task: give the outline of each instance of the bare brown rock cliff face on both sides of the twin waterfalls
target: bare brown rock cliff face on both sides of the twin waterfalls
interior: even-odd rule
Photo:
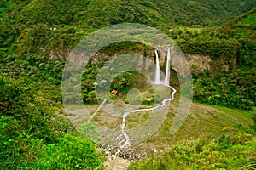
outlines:
[[[143,56],[143,53],[140,51],[135,52],[135,54],[138,54],[140,56]],[[93,61],[97,65],[103,65],[103,60],[111,60],[115,57],[118,57],[119,52],[113,55],[109,54],[101,54],[98,53],[93,57]],[[155,62],[155,54],[154,49],[148,50],[147,56],[149,60]],[[212,59],[208,55],[201,55],[201,54],[184,54],[184,57],[187,59],[187,62],[190,67],[190,71],[193,75],[197,76],[203,71],[209,71],[211,76],[214,77],[214,75],[224,72],[224,71],[230,71],[235,70],[237,68],[237,59],[234,57],[233,59]],[[159,59],[160,59],[160,68],[162,71],[166,71],[166,54],[159,53]],[[172,65],[174,64],[174,61],[172,60]],[[141,68],[138,69],[144,69],[145,71],[149,71],[150,69],[150,62],[145,62],[143,59],[138,60],[138,66]],[[172,71],[177,71],[177,68],[175,66],[172,66]]]

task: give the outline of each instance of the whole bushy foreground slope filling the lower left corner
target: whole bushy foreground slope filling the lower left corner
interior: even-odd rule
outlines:
[[[1,168],[102,169],[95,144],[71,135],[67,118],[32,95],[31,84],[0,74],[0,88]]]

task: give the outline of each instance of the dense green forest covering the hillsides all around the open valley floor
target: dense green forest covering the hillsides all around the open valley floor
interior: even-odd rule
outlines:
[[[248,122],[230,135],[182,141],[129,169],[255,169],[255,6],[253,0],[1,1],[0,169],[105,168],[99,145],[62,113],[62,71],[84,37],[127,22],[160,29],[184,54],[208,56],[210,69],[191,66],[193,102],[241,111]],[[100,63],[90,63],[82,77],[84,104],[97,105],[94,82],[104,62],[128,51],[147,56],[154,49],[135,42],[102,48]],[[127,94],[137,77],[120,75],[109,90]],[[142,104],[152,105],[145,99]],[[83,130],[88,128],[93,126]]]

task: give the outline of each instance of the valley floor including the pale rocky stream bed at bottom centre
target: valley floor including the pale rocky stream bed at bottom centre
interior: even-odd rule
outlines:
[[[247,128],[252,123],[248,122],[250,119],[247,117],[246,112],[193,103],[186,122],[184,122],[183,126],[175,135],[172,135],[168,133],[168,130],[172,124],[172,117],[176,111],[177,105],[178,101],[172,103],[165,122],[156,133],[152,136],[148,136],[148,139],[124,149],[102,146],[100,150],[105,152],[107,156],[107,161],[104,164],[105,167],[111,170],[126,169],[132,161],[140,161],[147,157],[163,155],[173,144],[189,142],[201,137],[218,138],[222,134],[230,134],[241,130],[241,128]],[[86,105],[86,109],[90,115],[92,115],[98,107],[99,105]],[[109,115],[106,116],[101,114],[101,112],[102,111],[99,111],[99,115],[97,116],[103,117],[96,116],[96,120],[109,122],[106,126],[119,126],[119,118]],[[71,116],[71,120],[74,122],[84,120],[82,109],[66,111],[64,115],[67,117]]]

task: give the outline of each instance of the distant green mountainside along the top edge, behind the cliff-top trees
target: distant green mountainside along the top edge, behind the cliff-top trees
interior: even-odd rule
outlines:
[[[14,5],[16,4],[16,5]],[[121,22],[139,22],[161,26],[216,25],[253,8],[253,0],[241,1],[38,1],[22,3],[5,1],[4,8],[14,8],[15,19],[21,23],[48,23],[49,26],[71,25],[106,26]],[[166,23],[163,23],[166,22]]]

